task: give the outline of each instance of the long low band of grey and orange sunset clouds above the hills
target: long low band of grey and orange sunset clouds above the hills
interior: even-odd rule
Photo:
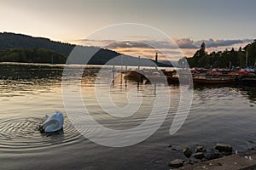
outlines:
[[[225,48],[244,47],[247,43],[253,42],[253,39],[206,39],[194,41],[190,37],[177,38],[172,40],[147,39],[146,37],[136,37],[136,41],[121,41],[116,40],[78,40],[80,45],[96,46],[101,48],[109,48],[122,54],[142,55],[148,58],[154,55],[155,51],[170,56],[185,55],[192,56],[198,50],[202,42],[206,43],[208,52],[222,51]],[[183,54],[181,54],[181,52]]]

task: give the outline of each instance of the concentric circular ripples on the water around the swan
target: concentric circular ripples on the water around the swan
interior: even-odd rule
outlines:
[[[81,140],[80,134],[66,118],[63,131],[58,133],[40,133],[39,125],[43,118],[27,117],[0,120],[0,146],[6,151],[35,150],[45,147],[59,147]]]

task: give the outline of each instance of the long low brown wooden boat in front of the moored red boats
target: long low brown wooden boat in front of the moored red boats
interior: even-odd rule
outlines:
[[[216,76],[209,74],[196,74],[193,76],[193,82],[195,85],[201,84],[212,84],[212,85],[222,85],[222,84],[232,84],[235,82],[235,77],[233,76]]]

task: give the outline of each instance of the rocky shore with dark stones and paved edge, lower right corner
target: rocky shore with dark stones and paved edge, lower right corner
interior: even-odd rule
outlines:
[[[172,150],[177,147],[170,144]],[[212,169],[212,170],[235,170],[256,169],[256,150],[254,147],[245,151],[235,150],[231,144],[217,143],[214,148],[207,149],[201,144],[179,148],[183,157],[168,162],[171,169]]]

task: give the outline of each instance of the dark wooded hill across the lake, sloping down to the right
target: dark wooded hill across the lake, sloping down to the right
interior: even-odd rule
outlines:
[[[31,37],[23,34],[0,32],[0,62],[34,62],[34,63],[65,63],[67,56],[76,45],[67,42],[55,42],[44,37]],[[90,59],[90,65],[105,65],[110,59],[121,54],[103,48],[82,47],[86,50],[97,51]],[[126,55],[125,55],[126,56]],[[127,65],[137,65],[138,59],[126,56]],[[120,64],[120,63],[119,63]],[[152,65],[152,60],[141,59],[141,64]],[[118,65],[118,63],[116,64]],[[158,63],[159,66],[170,66]]]

